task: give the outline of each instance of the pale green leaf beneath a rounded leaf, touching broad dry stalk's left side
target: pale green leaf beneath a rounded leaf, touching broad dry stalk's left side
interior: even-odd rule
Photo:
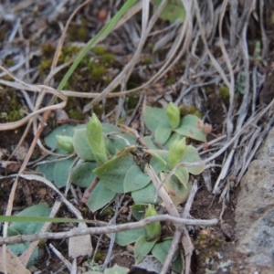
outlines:
[[[153,204],[159,203],[156,188],[150,183],[140,190],[132,191],[132,199],[135,204]]]

